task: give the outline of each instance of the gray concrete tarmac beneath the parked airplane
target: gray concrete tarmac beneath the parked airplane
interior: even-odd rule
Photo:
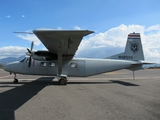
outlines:
[[[69,77],[13,75],[0,69],[0,120],[160,120],[160,69]],[[53,80],[53,81],[52,81]]]

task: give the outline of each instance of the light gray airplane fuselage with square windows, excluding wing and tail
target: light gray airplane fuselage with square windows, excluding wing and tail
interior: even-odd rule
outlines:
[[[57,76],[58,64],[55,61],[37,61],[32,60],[31,67],[28,67],[28,57],[22,61],[16,61],[4,67],[6,71],[25,75],[47,75]],[[134,70],[134,64],[140,61],[114,60],[114,59],[91,59],[74,58],[63,62],[62,74],[75,77],[87,77],[91,75],[111,72],[120,69]],[[140,66],[136,66],[141,67]]]

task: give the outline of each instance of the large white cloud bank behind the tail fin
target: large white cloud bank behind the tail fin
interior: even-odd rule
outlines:
[[[141,34],[146,60],[160,62],[159,28],[160,25],[145,28],[141,25],[127,26],[122,24],[106,32],[95,33],[91,37],[82,40],[75,57],[104,58],[121,53],[125,49],[127,35],[136,32]]]

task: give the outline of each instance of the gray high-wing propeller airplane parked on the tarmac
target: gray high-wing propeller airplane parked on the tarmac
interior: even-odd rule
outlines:
[[[74,58],[84,36],[94,33],[90,30],[33,30],[48,51],[33,51],[34,43],[21,61],[8,63],[4,70],[14,74],[46,75],[58,78],[60,85],[67,85],[67,77],[88,77],[121,69],[133,72],[143,69],[143,48],[140,33],[128,34],[125,51],[103,59]]]

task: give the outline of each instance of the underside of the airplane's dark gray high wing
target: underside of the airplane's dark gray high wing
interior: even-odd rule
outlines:
[[[89,30],[34,30],[49,52],[63,56],[74,56],[82,38],[93,33]]]

